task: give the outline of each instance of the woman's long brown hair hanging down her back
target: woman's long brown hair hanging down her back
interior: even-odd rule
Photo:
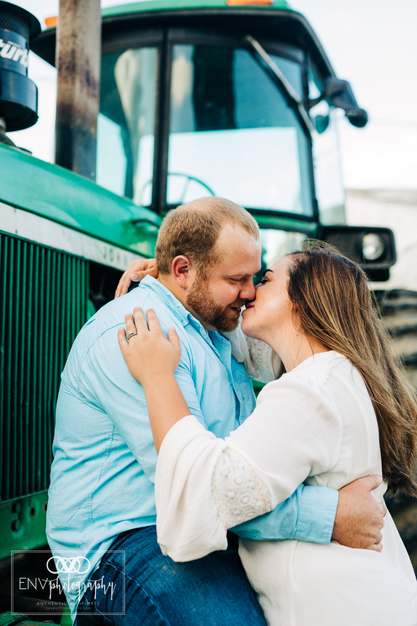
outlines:
[[[378,421],[383,478],[417,495],[417,396],[379,317],[363,269],[322,242],[288,255],[288,294],[300,330],[346,356],[361,373]]]

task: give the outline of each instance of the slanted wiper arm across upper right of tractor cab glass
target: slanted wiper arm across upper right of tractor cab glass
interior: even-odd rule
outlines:
[[[281,72],[281,69],[279,69],[278,65],[274,63],[273,59],[271,59],[271,57],[261,46],[259,41],[256,41],[256,39],[254,39],[251,35],[246,35],[244,39],[246,43],[248,43],[251,47],[255,59],[263,66],[264,69],[266,69],[269,76],[271,76],[271,79],[278,87],[279,91],[283,93],[289,106],[294,109],[296,115],[299,118],[299,121],[301,121],[301,124],[304,127],[304,130],[307,132],[308,136],[311,137],[313,125],[306,109],[304,108],[302,98],[299,97],[296,90],[294,90],[291,83],[289,83],[289,81],[285,78],[284,74]]]

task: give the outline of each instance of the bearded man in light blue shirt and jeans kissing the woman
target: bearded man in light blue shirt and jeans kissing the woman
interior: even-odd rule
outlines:
[[[174,563],[159,550],[157,454],[143,389],[130,376],[117,338],[124,314],[134,306],[156,310],[163,331],[174,326],[178,332],[182,355],[176,378],[189,408],[216,436],[229,434],[253,411],[255,400],[243,365],[218,331],[236,327],[240,307],[255,296],[258,226],[228,200],[201,198],[165,218],[156,262],[158,280],[148,276],[100,309],[69,354],[56,414],[49,545],[58,557],[72,550],[88,563],[68,578],[73,615],[88,579],[101,582],[97,593],[93,585],[86,591],[83,600],[96,599],[95,611],[80,610],[78,626],[264,626],[235,535],[230,534],[228,550],[190,563]],[[274,511],[235,530],[253,538],[319,543],[333,536],[344,545],[379,550],[374,544],[385,511],[370,494],[377,484],[377,478],[361,479],[339,496],[301,485]]]

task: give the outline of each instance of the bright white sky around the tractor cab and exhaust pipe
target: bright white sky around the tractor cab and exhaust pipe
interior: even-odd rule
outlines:
[[[44,19],[58,0],[14,0]],[[101,6],[126,4],[102,0]],[[417,189],[416,0],[290,0],[308,19],[338,78],[351,83],[369,122],[340,125],[344,183],[348,188]],[[29,76],[39,89],[39,120],[11,138],[52,161],[56,71],[31,54]]]

